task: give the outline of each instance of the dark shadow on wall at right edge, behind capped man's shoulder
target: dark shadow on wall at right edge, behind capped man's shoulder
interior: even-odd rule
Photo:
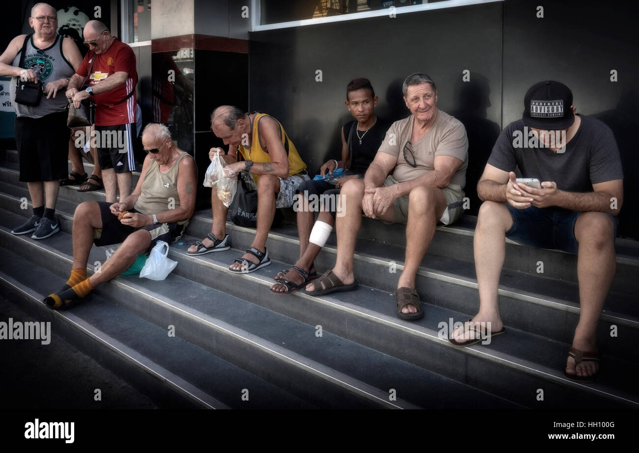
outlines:
[[[589,115],[597,118],[612,130],[619,146],[621,165],[624,168],[624,204],[619,212],[619,237],[629,237],[639,240],[639,232],[636,225],[639,222],[639,172],[636,168],[636,131],[639,128],[637,121],[637,103],[639,94],[634,89],[622,93],[617,102],[617,107],[598,114]],[[633,228],[634,227],[634,228]]]

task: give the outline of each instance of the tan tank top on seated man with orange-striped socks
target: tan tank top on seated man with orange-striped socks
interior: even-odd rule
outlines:
[[[180,206],[178,169],[180,161],[187,156],[192,159],[188,152],[182,152],[166,173],[160,172],[160,166],[156,161],[151,161],[151,165],[146,169],[144,182],[142,182],[142,193],[134,206],[135,211],[148,216]],[[178,221],[178,225],[188,223],[189,219]]]

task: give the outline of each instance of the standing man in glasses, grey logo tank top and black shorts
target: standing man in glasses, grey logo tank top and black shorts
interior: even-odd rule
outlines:
[[[19,152],[20,181],[26,182],[33,215],[13,229],[13,234],[33,233],[45,239],[59,231],[54,216],[60,179],[67,174],[69,130],[66,127],[65,88],[82,63],[77,46],[56,33],[56,10],[46,3],[31,8],[29,25],[34,33],[13,38],[0,56],[0,75],[13,77],[11,93],[16,112],[15,142]],[[24,48],[24,56],[22,55]],[[22,67],[20,63],[22,62]],[[18,79],[43,84],[36,106],[15,102]]]

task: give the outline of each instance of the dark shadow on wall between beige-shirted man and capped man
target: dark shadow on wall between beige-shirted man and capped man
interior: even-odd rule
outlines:
[[[470,209],[466,214],[476,216],[481,205],[481,200],[477,197],[477,182],[484,172],[493,145],[497,142],[500,128],[499,124],[486,118],[488,107],[491,106],[488,78],[473,73],[469,82],[459,80],[456,83],[454,93],[456,107],[454,111],[447,113],[456,117],[466,128],[468,169],[464,192],[470,198]]]

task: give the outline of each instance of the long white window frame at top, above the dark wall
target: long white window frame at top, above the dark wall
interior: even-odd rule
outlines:
[[[447,0],[436,3],[412,4],[408,6],[397,6],[395,14],[413,13],[415,11],[440,10],[442,8],[454,8],[455,6],[467,6],[471,4],[493,3],[504,0]],[[265,31],[279,28],[303,27],[307,25],[328,24],[330,22],[341,22],[343,20],[367,19],[369,17],[388,16],[390,8],[373,11],[360,11],[358,13],[347,13],[330,17],[316,17],[314,19],[291,20],[290,22],[279,22],[277,24],[261,25],[259,5],[260,0],[251,0],[251,21],[250,31]]]

